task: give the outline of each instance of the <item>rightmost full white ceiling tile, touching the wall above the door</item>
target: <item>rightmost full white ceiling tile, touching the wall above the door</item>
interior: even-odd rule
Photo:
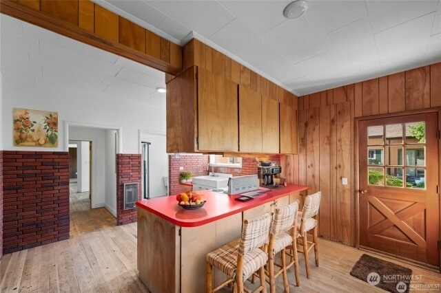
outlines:
[[[375,34],[380,63],[385,72],[414,65],[425,57],[434,15],[435,12],[432,12]]]

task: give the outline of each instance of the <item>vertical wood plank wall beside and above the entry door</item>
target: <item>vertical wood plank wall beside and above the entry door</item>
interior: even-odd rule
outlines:
[[[356,241],[354,119],[440,106],[441,63],[298,98],[298,155],[280,162],[288,182],[309,185],[309,194],[322,191],[320,236]]]

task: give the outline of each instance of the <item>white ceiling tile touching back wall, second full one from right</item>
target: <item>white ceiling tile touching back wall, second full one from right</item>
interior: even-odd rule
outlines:
[[[367,17],[322,36],[322,41],[338,66],[349,71],[349,74],[360,72],[360,68],[369,72],[380,70],[377,48]]]

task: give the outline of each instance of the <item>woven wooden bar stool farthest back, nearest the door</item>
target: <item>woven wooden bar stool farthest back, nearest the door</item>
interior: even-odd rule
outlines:
[[[305,204],[300,219],[297,220],[298,237],[302,239],[302,250],[298,250],[305,255],[306,276],[309,279],[311,276],[311,268],[309,268],[309,250],[314,248],[314,256],[316,257],[316,266],[318,267],[318,243],[317,243],[317,229],[318,208],[320,208],[320,197],[322,193],[318,191],[312,195],[305,197]],[[312,230],[312,242],[307,240],[307,232]]]

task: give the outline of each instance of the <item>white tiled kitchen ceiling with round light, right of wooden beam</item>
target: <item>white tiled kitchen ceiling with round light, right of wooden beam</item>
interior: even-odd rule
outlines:
[[[441,0],[92,0],[183,45],[212,45],[299,96],[441,61]]]

